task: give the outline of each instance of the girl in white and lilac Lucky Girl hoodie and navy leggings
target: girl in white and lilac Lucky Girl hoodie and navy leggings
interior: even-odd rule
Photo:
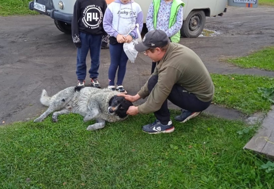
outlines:
[[[109,52],[109,86],[110,90],[118,90],[122,94],[127,94],[122,82],[124,80],[127,55],[124,52],[123,44],[130,43],[132,39],[138,38],[136,28],[127,35],[132,25],[138,23],[139,30],[143,27],[143,13],[138,3],[133,0],[115,0],[110,3],[105,11],[103,27],[106,33],[110,35]],[[119,68],[118,68],[119,67]],[[114,79],[117,73],[116,87]]]

